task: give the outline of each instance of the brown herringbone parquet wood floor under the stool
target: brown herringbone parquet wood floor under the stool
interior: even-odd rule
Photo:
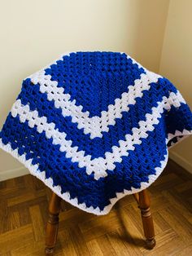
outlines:
[[[149,189],[157,245],[145,249],[133,196],[110,214],[86,214],[63,202],[55,256],[192,255],[192,178],[169,161]],[[43,256],[50,190],[31,175],[0,183],[0,255]]]

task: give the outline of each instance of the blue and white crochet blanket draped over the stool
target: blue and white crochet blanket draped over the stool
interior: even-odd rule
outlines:
[[[65,201],[107,214],[164,170],[192,114],[167,78],[118,52],[72,52],[24,79],[0,147]]]

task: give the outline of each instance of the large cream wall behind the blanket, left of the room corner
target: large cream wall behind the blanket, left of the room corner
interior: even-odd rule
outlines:
[[[24,77],[64,51],[125,51],[159,71],[168,0],[0,0],[0,126]],[[24,173],[0,151],[0,179]],[[14,171],[15,170],[15,171]]]

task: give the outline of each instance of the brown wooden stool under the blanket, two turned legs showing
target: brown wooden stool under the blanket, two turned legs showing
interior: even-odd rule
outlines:
[[[135,197],[137,205],[141,210],[143,230],[146,236],[146,246],[148,249],[153,249],[155,246],[155,232],[150,211],[149,195],[145,189],[142,190],[142,192],[133,194],[133,196]],[[53,255],[57,241],[60,203],[61,198],[53,192],[50,199],[49,219],[46,226],[46,255]]]

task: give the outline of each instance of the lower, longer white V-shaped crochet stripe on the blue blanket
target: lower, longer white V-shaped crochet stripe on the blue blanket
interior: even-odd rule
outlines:
[[[139,121],[139,128],[133,128],[133,135],[125,135],[125,140],[119,141],[119,146],[113,146],[111,152],[106,152],[105,157],[98,157],[91,160],[91,156],[85,156],[85,151],[78,151],[78,147],[72,147],[72,140],[67,140],[66,133],[59,132],[55,129],[54,123],[48,123],[46,117],[39,117],[38,112],[30,111],[28,105],[21,104],[18,99],[11,109],[12,117],[19,115],[20,121],[28,121],[28,126],[33,128],[37,126],[37,131],[41,133],[45,131],[46,138],[53,139],[53,144],[60,145],[59,150],[66,152],[66,157],[71,158],[72,162],[78,162],[80,168],[85,167],[87,174],[94,173],[94,179],[107,176],[107,170],[116,168],[115,162],[121,162],[122,157],[129,156],[129,150],[134,150],[134,145],[141,144],[142,138],[147,138],[147,132],[155,129],[154,125],[159,123],[161,113],[164,109],[170,109],[171,106],[180,107],[181,103],[185,103],[181,94],[171,92],[169,97],[163,97],[157,107],[151,108],[152,113],[146,113],[146,121]]]

